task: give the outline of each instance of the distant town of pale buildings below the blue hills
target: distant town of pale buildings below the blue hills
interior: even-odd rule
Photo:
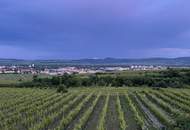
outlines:
[[[59,68],[38,68],[35,64],[28,66],[0,66],[0,74],[47,74],[47,75],[63,75],[63,74],[93,74],[93,73],[106,73],[115,71],[149,71],[149,70],[164,70],[165,66],[153,65],[131,65],[131,66],[92,66],[92,67],[75,67],[66,66]]]

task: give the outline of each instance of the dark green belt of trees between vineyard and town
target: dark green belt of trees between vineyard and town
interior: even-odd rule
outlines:
[[[133,73],[133,72],[131,72]],[[143,72],[143,75],[115,75],[115,74],[64,74],[62,76],[54,76],[52,78],[33,77],[32,82],[19,84],[19,87],[57,87],[64,85],[69,87],[175,87],[180,88],[190,85],[190,70],[189,69],[167,69],[159,72]],[[155,73],[155,74],[154,74]]]

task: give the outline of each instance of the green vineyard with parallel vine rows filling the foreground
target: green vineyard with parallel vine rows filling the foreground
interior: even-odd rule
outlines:
[[[0,130],[189,130],[189,113],[188,89],[0,88]]]

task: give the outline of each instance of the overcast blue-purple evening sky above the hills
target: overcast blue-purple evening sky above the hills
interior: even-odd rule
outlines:
[[[0,58],[190,56],[189,0],[0,0]]]

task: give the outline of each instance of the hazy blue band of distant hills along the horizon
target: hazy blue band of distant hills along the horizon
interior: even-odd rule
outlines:
[[[52,64],[52,65],[168,65],[168,66],[190,66],[190,57],[177,58],[102,58],[102,59],[6,59],[0,58],[0,65],[22,65],[22,64]]]

